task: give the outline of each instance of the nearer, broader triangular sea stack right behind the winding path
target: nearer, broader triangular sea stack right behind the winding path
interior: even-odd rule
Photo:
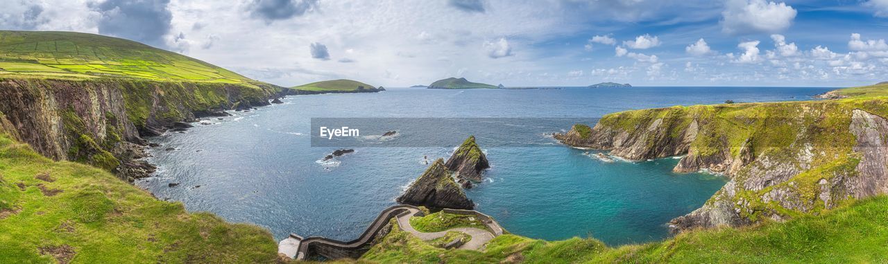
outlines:
[[[475,204],[465,196],[450,172],[444,159],[435,160],[397,201],[412,206],[472,210]]]

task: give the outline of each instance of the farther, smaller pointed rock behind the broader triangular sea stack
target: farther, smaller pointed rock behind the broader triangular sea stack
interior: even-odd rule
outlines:
[[[475,136],[469,136],[459,148],[456,148],[445,166],[455,172],[457,178],[480,182],[483,180],[481,172],[489,168],[490,164],[488,157],[478,144],[475,144]]]

